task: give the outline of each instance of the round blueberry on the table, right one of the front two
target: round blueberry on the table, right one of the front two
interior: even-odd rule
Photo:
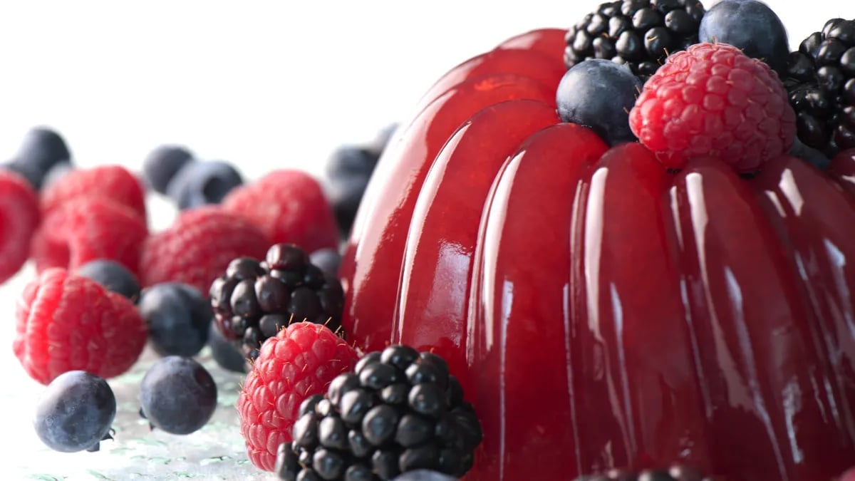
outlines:
[[[152,429],[172,434],[198,431],[214,414],[216,384],[190,358],[167,356],[152,365],[139,387],[139,413]]]

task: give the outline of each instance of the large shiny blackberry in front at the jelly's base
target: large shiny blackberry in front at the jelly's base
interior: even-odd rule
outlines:
[[[417,470],[460,477],[482,436],[445,360],[401,345],[360,359],[298,414],[294,441],[279,451],[281,479],[385,481]]]

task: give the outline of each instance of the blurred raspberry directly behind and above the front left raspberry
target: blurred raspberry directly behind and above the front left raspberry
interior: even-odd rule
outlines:
[[[44,218],[32,239],[32,258],[39,272],[110,259],[138,276],[147,236],[144,220],[125,205],[100,197],[72,199]]]

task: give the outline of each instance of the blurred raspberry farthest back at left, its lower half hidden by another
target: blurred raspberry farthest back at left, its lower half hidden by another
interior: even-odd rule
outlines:
[[[136,175],[119,165],[76,169],[44,188],[42,211],[49,212],[69,200],[106,197],[127,205],[145,219],[145,193]]]

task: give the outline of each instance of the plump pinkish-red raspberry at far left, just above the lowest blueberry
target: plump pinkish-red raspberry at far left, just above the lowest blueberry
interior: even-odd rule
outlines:
[[[43,384],[66,371],[118,376],[146,341],[143,319],[129,300],[63,269],[45,270],[27,284],[15,318],[15,356]]]

